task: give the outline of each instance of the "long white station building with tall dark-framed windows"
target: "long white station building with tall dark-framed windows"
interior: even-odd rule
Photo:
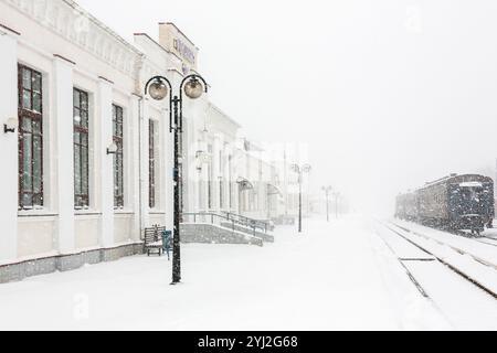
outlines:
[[[0,0],[0,282],[140,254],[146,227],[172,229],[169,106],[144,90],[198,73],[198,47],[172,23],[129,43],[75,1]],[[277,217],[274,163],[208,95],[183,108],[183,222]]]

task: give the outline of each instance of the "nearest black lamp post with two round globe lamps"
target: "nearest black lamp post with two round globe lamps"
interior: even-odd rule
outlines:
[[[179,86],[179,94],[172,94],[171,82],[163,76],[155,76],[145,85],[145,95],[149,94],[155,100],[163,100],[169,96],[169,132],[175,132],[175,222],[172,240],[172,282],[181,282],[181,171],[180,171],[180,137],[183,132],[183,93],[190,99],[198,99],[208,92],[208,84],[200,75],[189,75],[183,78]]]

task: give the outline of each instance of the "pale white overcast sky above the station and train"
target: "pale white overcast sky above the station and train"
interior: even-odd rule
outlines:
[[[307,143],[315,188],[391,211],[452,172],[495,174],[495,0],[80,0],[131,41],[175,22],[211,99],[267,142]]]

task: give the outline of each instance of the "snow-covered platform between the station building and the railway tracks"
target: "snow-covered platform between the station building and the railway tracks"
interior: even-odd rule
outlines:
[[[177,287],[167,258],[146,256],[0,285],[0,329],[457,329],[420,295],[370,222],[305,225],[303,235],[278,227],[263,248],[183,245]]]

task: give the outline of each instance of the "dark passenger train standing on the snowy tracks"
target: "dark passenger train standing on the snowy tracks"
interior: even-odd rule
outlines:
[[[478,174],[451,174],[400,194],[395,217],[450,231],[479,235],[495,217],[494,180]]]

